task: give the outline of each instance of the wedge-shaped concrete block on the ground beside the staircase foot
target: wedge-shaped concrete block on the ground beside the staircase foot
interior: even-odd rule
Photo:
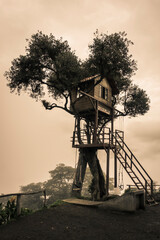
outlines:
[[[100,207],[127,212],[135,212],[138,209],[145,209],[144,191],[126,193],[123,196],[103,202]]]

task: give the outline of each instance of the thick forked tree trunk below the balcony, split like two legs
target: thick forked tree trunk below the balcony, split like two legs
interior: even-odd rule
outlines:
[[[80,149],[78,166],[73,182],[72,195],[80,197],[87,163],[93,176],[92,198],[93,200],[100,200],[106,194],[105,180],[97,158],[97,150],[94,148]]]

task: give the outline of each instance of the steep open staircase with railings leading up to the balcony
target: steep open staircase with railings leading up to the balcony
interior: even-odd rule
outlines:
[[[153,180],[124,142],[122,131],[115,131],[113,142],[115,148],[112,151],[115,153],[116,158],[126,170],[137,189],[145,191],[146,201],[154,204]]]

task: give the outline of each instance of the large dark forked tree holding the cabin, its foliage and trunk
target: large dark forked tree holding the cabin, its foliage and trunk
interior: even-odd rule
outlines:
[[[100,83],[105,76],[114,78],[119,94],[114,96],[113,106],[121,105],[123,111],[114,117],[143,115],[149,110],[149,98],[143,89],[132,83],[132,76],[137,70],[136,62],[129,54],[128,40],[125,32],[114,34],[99,34],[96,31],[93,43],[89,45],[88,59],[81,61],[71,50],[67,41],[56,39],[38,32],[27,40],[26,55],[21,55],[12,61],[12,66],[5,76],[11,92],[29,93],[30,97],[42,101],[47,110],[60,108],[69,114],[77,115],[72,101],[71,92],[78,88],[81,79],[100,74]],[[52,102],[48,101],[52,98]],[[62,104],[57,100],[63,99]],[[73,110],[70,110],[70,104]],[[110,119],[100,119],[99,128]],[[94,123],[86,121],[86,131]],[[79,138],[79,141],[81,139]],[[77,170],[82,166],[80,190],[85,176],[86,165],[89,164],[94,177],[94,198],[105,195],[105,181],[97,158],[97,151],[80,149]],[[78,176],[77,171],[77,176]]]

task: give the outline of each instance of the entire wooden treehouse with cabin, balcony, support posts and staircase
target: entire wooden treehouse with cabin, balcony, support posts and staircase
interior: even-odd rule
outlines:
[[[152,201],[153,180],[124,142],[124,132],[114,130],[114,114],[120,113],[113,106],[116,94],[118,94],[118,89],[114,80],[109,77],[101,79],[100,75],[81,80],[78,87],[72,90],[70,110],[75,115],[72,147],[83,149],[84,152],[88,151],[88,153],[100,149],[105,150],[107,154],[107,194],[109,193],[110,150],[112,150],[114,154],[114,186],[117,187],[117,161],[119,161],[133,181],[134,186],[138,190],[144,190],[146,199]],[[73,192],[80,192],[82,188],[83,167],[81,162],[86,162],[86,158],[84,161],[82,158],[84,156],[79,158]]]

